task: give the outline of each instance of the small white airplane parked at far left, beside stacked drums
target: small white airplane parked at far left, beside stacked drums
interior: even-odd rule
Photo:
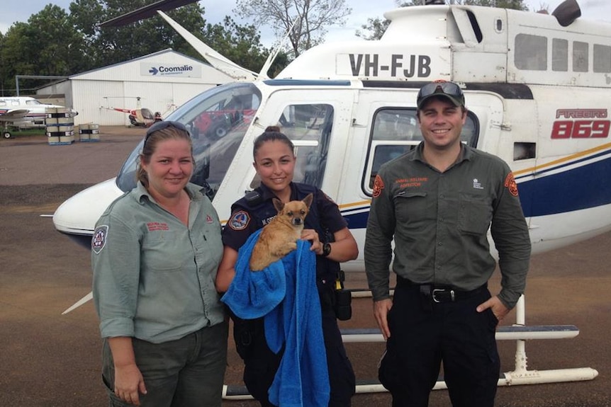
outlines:
[[[65,108],[60,105],[40,103],[29,96],[0,97],[0,123],[4,124],[2,137],[11,138],[9,127],[44,127],[47,108]],[[69,109],[69,115],[76,116],[75,110]]]

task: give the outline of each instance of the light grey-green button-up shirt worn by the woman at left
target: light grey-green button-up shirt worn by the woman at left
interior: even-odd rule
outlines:
[[[162,343],[225,318],[214,285],[223,256],[218,215],[197,185],[187,191],[189,227],[157,205],[141,183],[100,217],[91,263],[103,338]]]

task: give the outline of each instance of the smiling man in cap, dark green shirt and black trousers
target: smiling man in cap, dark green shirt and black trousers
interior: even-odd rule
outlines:
[[[387,340],[380,381],[393,407],[425,407],[443,361],[454,407],[492,407],[500,371],[495,328],[525,289],[527,224],[509,166],[461,143],[466,108],[458,85],[422,86],[417,118],[424,141],[380,168],[366,231],[374,316]],[[489,228],[502,274],[494,296]]]

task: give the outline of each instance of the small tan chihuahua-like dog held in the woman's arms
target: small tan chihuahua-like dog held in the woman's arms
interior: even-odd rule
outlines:
[[[297,248],[297,240],[301,238],[303,223],[310,212],[312,200],[311,193],[301,201],[286,204],[274,198],[278,215],[263,227],[259,240],[252,248],[251,271],[261,271]]]

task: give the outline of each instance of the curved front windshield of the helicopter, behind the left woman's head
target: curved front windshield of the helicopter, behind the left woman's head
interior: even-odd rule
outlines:
[[[191,182],[206,188],[211,200],[260,104],[261,93],[254,84],[228,84],[201,93],[167,117],[189,129],[196,162]],[[131,152],[117,176],[117,186],[123,192],[136,185],[143,142]]]

